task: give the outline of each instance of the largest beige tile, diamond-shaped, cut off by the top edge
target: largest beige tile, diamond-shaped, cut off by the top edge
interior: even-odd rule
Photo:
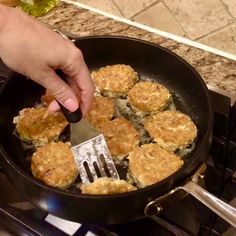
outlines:
[[[191,39],[197,39],[232,22],[220,0],[164,0]]]

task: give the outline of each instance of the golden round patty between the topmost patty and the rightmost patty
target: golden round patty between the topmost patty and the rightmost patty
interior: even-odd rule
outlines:
[[[140,81],[128,92],[128,101],[138,116],[155,114],[168,106],[171,94],[166,87],[153,81]]]

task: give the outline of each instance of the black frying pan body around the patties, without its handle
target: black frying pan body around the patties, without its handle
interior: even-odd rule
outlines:
[[[191,116],[198,128],[195,149],[183,167],[163,181],[134,192],[82,195],[46,186],[33,178],[26,154],[13,134],[12,119],[22,108],[40,101],[44,89],[14,74],[0,92],[0,164],[10,182],[43,210],[77,222],[116,224],[144,217],[151,200],[181,185],[203,163],[212,137],[212,110],[205,83],[183,59],[158,45],[124,37],[87,37],[75,41],[90,70],[109,64],[129,64],[141,79],[152,79],[174,94],[177,109]],[[20,55],[17,55],[20,56]]]

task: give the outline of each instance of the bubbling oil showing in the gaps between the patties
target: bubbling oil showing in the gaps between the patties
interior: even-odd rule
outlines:
[[[143,78],[141,80],[143,80]],[[147,80],[147,79],[145,78],[145,80]],[[99,95],[99,94],[97,94],[97,95]],[[115,112],[115,115],[113,118],[124,117],[124,118],[130,120],[132,122],[132,124],[134,125],[134,127],[139,132],[140,145],[153,142],[152,138],[149,136],[149,134],[147,133],[147,131],[145,131],[145,129],[143,127],[143,122],[146,119],[146,117],[144,116],[143,118],[141,118],[141,117],[135,115],[131,109],[130,104],[128,103],[127,98],[115,98],[114,103],[116,105],[116,112]],[[36,106],[38,106],[38,104],[36,104]],[[165,109],[179,110],[178,109],[179,106],[183,106],[182,101],[174,92],[172,92],[172,99]],[[15,135],[20,140],[20,138],[16,132],[15,132]],[[63,133],[60,135],[59,140],[63,141],[63,142],[70,141],[69,125],[65,128]],[[31,169],[30,169],[30,163],[31,163],[31,157],[36,149],[35,149],[34,145],[31,143],[27,143],[22,140],[20,140],[20,142],[21,142],[22,148],[24,150],[24,158],[21,158],[22,165],[24,167],[27,167],[26,169],[32,175]],[[190,145],[189,147],[185,148],[184,150],[181,150],[181,151],[177,150],[176,154],[179,155],[180,157],[184,158],[194,149],[194,147],[195,147],[195,142],[192,145]],[[134,181],[132,180],[132,178],[130,177],[130,174],[129,174],[128,159],[124,158],[122,161],[115,161],[115,165],[116,165],[116,168],[117,168],[120,178],[135,185]],[[80,177],[78,177],[76,179],[76,181],[66,191],[74,192],[74,193],[81,193],[80,188],[79,188],[80,185],[81,185],[81,179],[80,179]]]

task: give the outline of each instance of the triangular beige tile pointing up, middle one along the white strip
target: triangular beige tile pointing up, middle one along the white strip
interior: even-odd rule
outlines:
[[[134,17],[133,20],[162,31],[181,36],[185,35],[182,28],[163,3],[156,4],[142,11],[139,15]]]

